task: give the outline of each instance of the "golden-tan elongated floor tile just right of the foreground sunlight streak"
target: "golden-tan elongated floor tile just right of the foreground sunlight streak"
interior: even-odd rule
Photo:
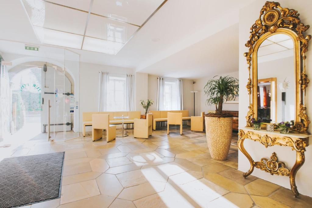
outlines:
[[[236,193],[243,193],[246,194],[246,190],[244,186],[240,185],[239,183],[236,183],[235,181],[232,181],[228,179],[227,177],[221,176],[217,173],[210,173],[210,172],[204,172],[204,177],[211,181],[212,183],[221,186],[222,188],[236,192]]]

